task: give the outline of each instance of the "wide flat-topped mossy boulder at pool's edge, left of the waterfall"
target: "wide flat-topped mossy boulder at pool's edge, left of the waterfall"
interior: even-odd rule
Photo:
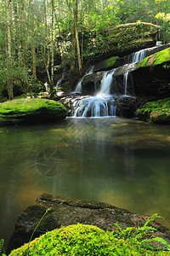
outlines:
[[[66,108],[46,99],[20,99],[0,104],[0,125],[33,124],[65,119]]]

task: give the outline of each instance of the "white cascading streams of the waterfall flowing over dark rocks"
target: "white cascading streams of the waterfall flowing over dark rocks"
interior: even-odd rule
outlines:
[[[124,95],[130,96],[127,94],[127,84],[133,78],[129,78],[129,72],[133,70],[135,62],[142,61],[145,58],[145,49],[139,50],[136,53],[133,53],[129,56],[128,64],[124,65],[125,73],[123,74],[123,86],[124,86]],[[93,73],[94,67],[91,67],[88,72],[83,76],[83,78],[77,84],[75,92],[82,92],[82,80],[88,75]],[[101,88],[99,92],[96,92],[95,96],[83,97],[77,104],[77,108],[74,110],[74,117],[107,117],[107,116],[116,116],[116,106],[115,99],[111,95],[111,86],[114,87],[115,79],[114,73],[116,69],[113,69],[109,72],[106,72],[101,80]],[[131,81],[133,84],[133,82]]]

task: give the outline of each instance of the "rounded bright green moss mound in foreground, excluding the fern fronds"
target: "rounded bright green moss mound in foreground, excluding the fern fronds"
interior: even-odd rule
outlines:
[[[94,225],[75,224],[47,232],[12,251],[15,255],[168,255],[141,248]]]

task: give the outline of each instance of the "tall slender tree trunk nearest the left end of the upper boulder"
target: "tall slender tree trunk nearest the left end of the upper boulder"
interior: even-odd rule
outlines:
[[[78,29],[77,29],[77,9],[78,9],[78,2],[77,2],[77,0],[74,0],[73,15],[74,15],[75,38],[76,38],[76,43],[77,43],[77,61],[78,61],[79,73],[82,74],[82,63],[81,63],[80,45],[79,45],[79,40],[78,40]]]

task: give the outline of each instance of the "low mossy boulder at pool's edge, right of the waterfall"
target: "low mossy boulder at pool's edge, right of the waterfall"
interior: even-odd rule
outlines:
[[[137,110],[136,116],[157,124],[170,124],[170,98],[145,103]]]

